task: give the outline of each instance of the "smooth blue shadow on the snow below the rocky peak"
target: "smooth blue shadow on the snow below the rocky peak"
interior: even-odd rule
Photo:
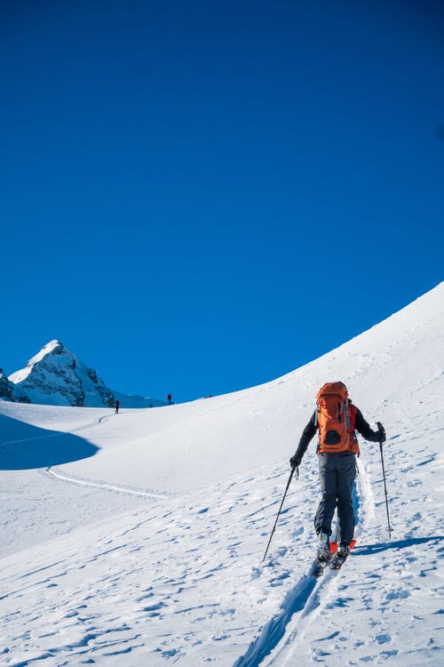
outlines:
[[[4,414],[0,414],[0,433],[0,470],[47,468],[86,459],[99,451],[71,433],[41,429]]]

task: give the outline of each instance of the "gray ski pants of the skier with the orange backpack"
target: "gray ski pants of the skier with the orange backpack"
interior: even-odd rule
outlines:
[[[353,482],[356,476],[354,454],[320,454],[319,478],[322,498],[314,527],[316,533],[331,534],[331,521],[337,508],[337,542],[349,544],[353,539]]]

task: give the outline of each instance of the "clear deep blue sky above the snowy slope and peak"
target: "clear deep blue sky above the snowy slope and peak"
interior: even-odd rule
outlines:
[[[440,2],[4,0],[0,66],[7,374],[215,395],[443,279]]]

